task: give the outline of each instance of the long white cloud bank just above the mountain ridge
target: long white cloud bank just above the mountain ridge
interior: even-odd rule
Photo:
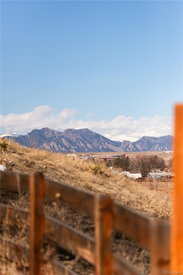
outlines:
[[[112,120],[77,120],[74,119],[76,109],[64,109],[57,114],[54,114],[53,110],[54,108],[48,105],[41,105],[29,113],[1,115],[1,127],[5,127],[5,131],[20,134],[49,127],[57,131],[64,131],[67,128],[88,128],[97,133],[108,132],[137,138],[143,135],[154,137],[173,135],[172,117],[155,115],[154,117],[141,117],[137,120],[133,117],[119,115]],[[87,116],[91,117],[89,114]]]

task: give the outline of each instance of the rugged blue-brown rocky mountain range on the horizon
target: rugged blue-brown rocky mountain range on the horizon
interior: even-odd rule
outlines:
[[[63,132],[50,128],[34,129],[27,135],[11,137],[15,142],[32,148],[52,152],[140,152],[172,150],[173,137],[143,136],[135,142],[116,142],[89,129],[66,129]]]

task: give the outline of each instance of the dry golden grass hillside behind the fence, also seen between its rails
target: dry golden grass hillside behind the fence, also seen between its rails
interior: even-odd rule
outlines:
[[[5,142],[5,140],[1,139],[2,142]],[[6,148],[2,147],[1,164],[5,165],[7,170],[24,174],[40,171],[48,178],[65,182],[89,192],[110,194],[112,199],[123,205],[137,209],[141,213],[145,213],[156,219],[170,219],[171,217],[170,191],[150,190],[148,187],[142,186],[134,180],[115,174],[109,168],[106,168],[102,162],[84,161],[79,158],[66,157],[60,153],[26,148],[15,144],[11,140],[7,141]],[[15,192],[3,190],[1,192],[1,202],[28,209],[29,195],[19,195]],[[94,235],[94,223],[91,217],[48,200],[45,200],[44,209],[46,215],[67,222],[69,225],[82,230],[88,235]],[[13,232],[15,239],[22,239],[28,243],[29,237],[25,224],[21,227],[19,233],[17,233],[17,229],[12,229],[11,227],[10,230],[10,225],[7,221],[7,224],[2,225],[1,232],[6,238],[12,238],[10,233],[12,234]],[[54,251],[53,254],[56,253],[53,247],[51,246],[47,250],[49,254],[52,250]],[[150,253],[143,247],[114,232],[112,249],[115,252],[121,253],[144,274],[150,274]],[[65,263],[80,274],[88,275],[94,272],[93,267],[77,255],[73,260],[65,261]],[[16,270],[17,264],[10,263],[7,257],[1,257],[1,274],[8,274],[8,272],[9,274],[22,274],[21,272],[28,274],[26,273],[28,267],[25,263],[19,263],[19,266],[22,269],[19,268],[18,273],[16,273],[17,271],[15,273],[12,273],[12,271],[9,272],[8,270],[11,270],[11,268],[15,268]],[[51,274],[48,268],[45,274]]]

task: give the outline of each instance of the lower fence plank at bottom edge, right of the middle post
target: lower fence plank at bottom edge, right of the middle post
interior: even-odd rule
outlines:
[[[113,254],[113,275],[141,275],[142,273],[136,269],[127,260],[119,254]]]

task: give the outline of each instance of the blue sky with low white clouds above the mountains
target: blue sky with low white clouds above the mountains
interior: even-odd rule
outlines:
[[[172,134],[182,1],[1,1],[1,133]]]

